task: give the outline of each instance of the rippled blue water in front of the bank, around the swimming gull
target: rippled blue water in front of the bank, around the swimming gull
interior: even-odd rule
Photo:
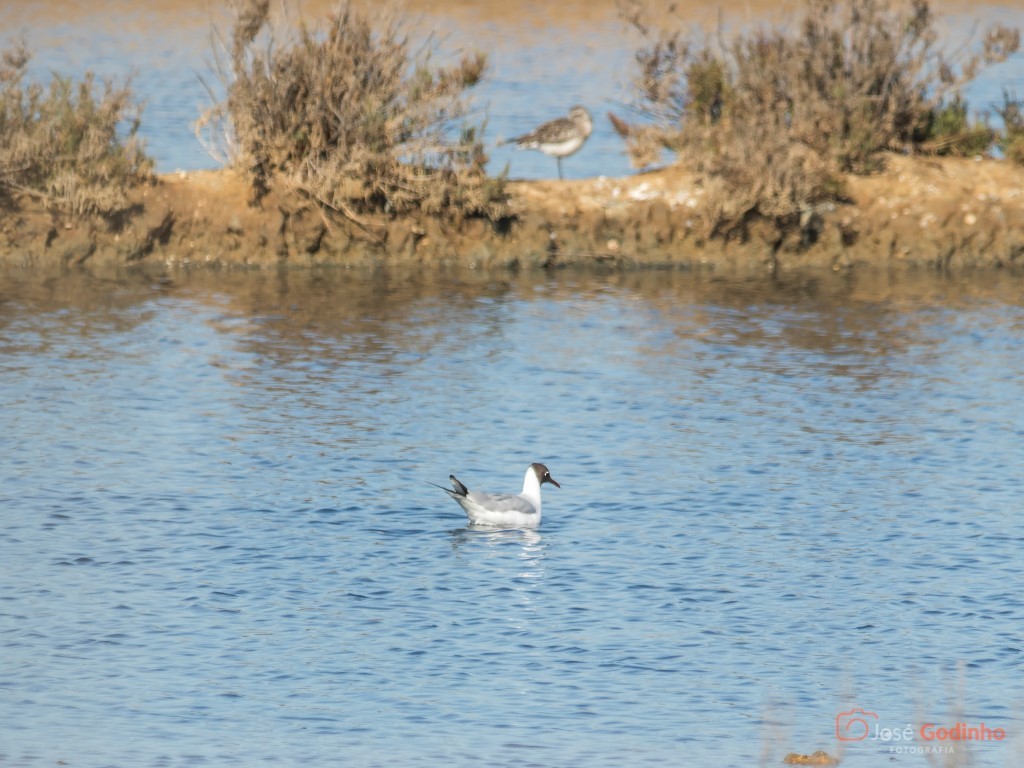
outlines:
[[[1019,766],[1022,288],[7,272],[0,764]]]

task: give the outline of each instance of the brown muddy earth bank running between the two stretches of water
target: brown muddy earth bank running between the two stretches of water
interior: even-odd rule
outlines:
[[[71,221],[32,200],[0,213],[0,263],[699,266],[762,271],[913,265],[1017,267],[1024,254],[1024,169],[994,160],[893,156],[848,179],[849,201],[806,215],[799,230],[753,222],[744,237],[708,240],[701,189],[676,169],[626,178],[511,184],[514,216],[329,222],[294,196],[249,204],[230,171],[163,176],[123,221]]]

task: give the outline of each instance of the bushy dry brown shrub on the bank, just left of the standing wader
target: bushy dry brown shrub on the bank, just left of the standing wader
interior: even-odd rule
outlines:
[[[255,199],[278,180],[355,221],[415,210],[506,214],[504,179],[484,170],[480,127],[465,124],[483,54],[435,67],[429,46],[414,55],[394,12],[371,19],[344,5],[322,26],[283,29],[268,8],[268,0],[237,8],[216,65],[226,99],[198,124],[226,137]]]

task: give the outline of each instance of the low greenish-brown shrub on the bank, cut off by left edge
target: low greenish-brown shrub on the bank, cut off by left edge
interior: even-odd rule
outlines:
[[[153,178],[130,83],[106,80],[97,93],[92,73],[54,74],[44,87],[25,82],[29,60],[24,43],[0,54],[0,195],[75,215],[126,212],[129,189]]]

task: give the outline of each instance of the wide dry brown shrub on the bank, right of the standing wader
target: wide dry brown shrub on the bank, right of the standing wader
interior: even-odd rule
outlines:
[[[756,216],[799,222],[840,199],[843,173],[927,138],[943,99],[1020,44],[994,26],[973,52],[948,53],[927,0],[805,0],[793,29],[731,39],[653,27],[640,0],[625,2],[645,41],[635,87],[648,121],[620,133],[636,165],[669,150],[699,175],[709,234]]]

